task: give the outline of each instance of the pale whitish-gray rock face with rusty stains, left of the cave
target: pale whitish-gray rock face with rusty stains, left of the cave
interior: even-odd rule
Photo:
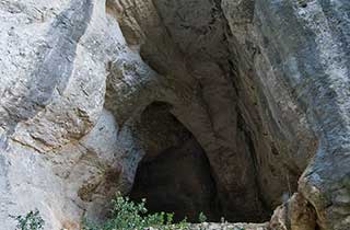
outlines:
[[[106,67],[137,55],[102,1],[0,9],[0,229],[34,208],[46,229],[78,229],[84,212],[94,216],[133,181],[142,153],[132,124],[119,127],[104,103]]]

